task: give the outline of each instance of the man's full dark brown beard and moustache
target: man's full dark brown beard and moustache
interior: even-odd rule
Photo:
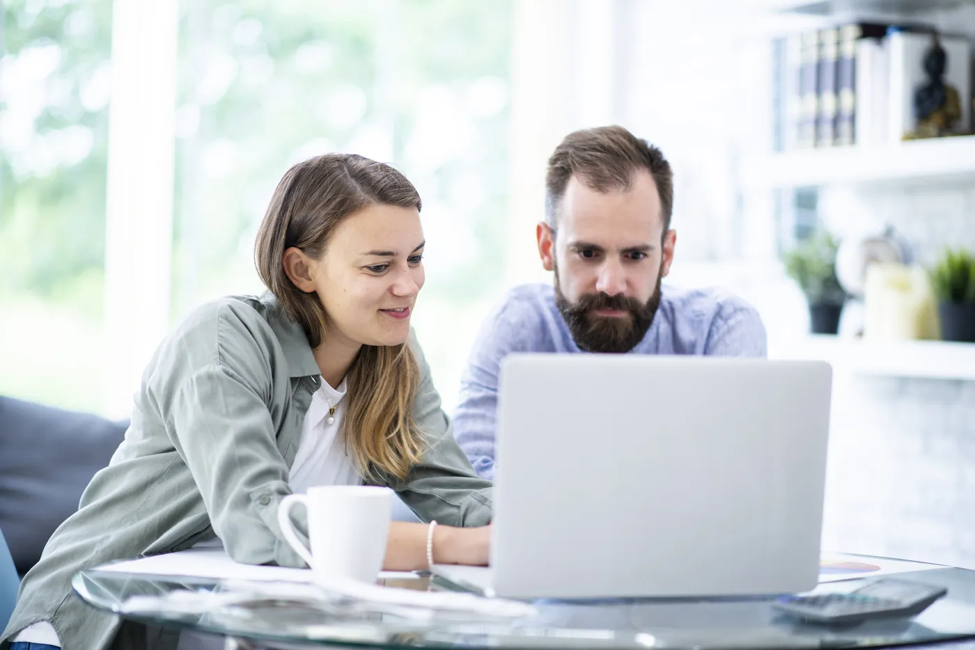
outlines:
[[[661,270],[662,270],[661,265]],[[559,269],[555,269],[555,304],[580,350],[586,352],[624,353],[633,350],[643,340],[660,307],[660,281],[650,299],[641,303],[635,298],[608,293],[588,293],[574,304],[569,303],[559,286]],[[629,312],[629,316],[599,316],[596,310]]]

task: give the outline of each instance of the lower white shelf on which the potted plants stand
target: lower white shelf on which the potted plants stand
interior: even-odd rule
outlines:
[[[769,343],[770,359],[832,363],[840,371],[892,377],[975,380],[975,344],[947,341],[880,343],[810,335]]]

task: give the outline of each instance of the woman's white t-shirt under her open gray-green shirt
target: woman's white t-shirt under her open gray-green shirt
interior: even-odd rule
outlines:
[[[305,412],[301,425],[301,440],[294,455],[292,471],[288,482],[292,492],[301,493],[314,485],[358,485],[362,482],[355,462],[348,455],[344,441],[339,437],[342,416],[345,413],[345,380],[332,388],[322,379],[322,386],[315,391],[311,404]],[[334,406],[332,422],[329,423],[329,410]],[[219,538],[197,544],[197,547],[220,547]],[[50,623],[35,623],[24,628],[12,641],[47,643],[60,647],[58,632]],[[183,631],[179,635],[178,650],[221,650],[222,638],[193,631]]]

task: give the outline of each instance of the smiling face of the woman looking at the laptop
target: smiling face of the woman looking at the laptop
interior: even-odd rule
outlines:
[[[326,338],[353,345],[405,342],[423,287],[423,245],[415,208],[374,205],[346,217],[322,257],[308,260],[312,288],[329,315]]]

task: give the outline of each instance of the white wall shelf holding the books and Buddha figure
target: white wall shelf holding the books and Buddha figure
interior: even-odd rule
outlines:
[[[772,154],[746,173],[750,184],[772,188],[975,176],[975,135]]]

